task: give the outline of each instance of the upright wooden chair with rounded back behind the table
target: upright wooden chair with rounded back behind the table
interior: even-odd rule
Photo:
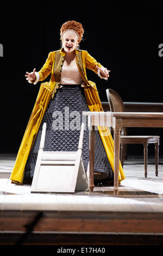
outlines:
[[[125,112],[123,101],[120,95],[112,89],[106,89],[106,95],[111,112]],[[143,144],[145,177],[147,178],[147,159],[148,159],[148,144],[155,144],[155,175],[158,176],[159,162],[159,136],[128,136],[126,127],[121,130],[121,163],[124,161],[124,145],[125,144]]]

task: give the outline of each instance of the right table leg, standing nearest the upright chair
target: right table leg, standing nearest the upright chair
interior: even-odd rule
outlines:
[[[114,195],[118,196],[118,174],[120,167],[121,129],[114,128]]]

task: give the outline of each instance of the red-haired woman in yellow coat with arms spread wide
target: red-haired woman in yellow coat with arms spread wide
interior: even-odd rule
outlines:
[[[26,79],[36,84],[44,81],[51,74],[49,82],[41,83],[37,99],[18,150],[14,169],[10,179],[16,184],[32,183],[37,153],[40,146],[43,123],[47,123],[45,151],[77,151],[80,130],[54,129],[57,118],[54,113],[60,112],[65,118],[65,108],[69,112],[103,111],[96,84],[88,81],[86,68],[93,70],[99,77],[108,80],[109,70],[98,63],[85,50],[79,50],[84,29],[76,21],[65,22],[60,29],[62,47],[50,52],[46,63],[39,72],[26,72]],[[69,123],[73,117],[69,118]],[[108,136],[103,136],[101,127],[96,131],[95,149],[95,182],[109,184],[114,180],[114,142],[108,127]],[[89,131],[84,131],[83,162],[87,169],[89,163]],[[119,181],[125,179],[120,164]]]

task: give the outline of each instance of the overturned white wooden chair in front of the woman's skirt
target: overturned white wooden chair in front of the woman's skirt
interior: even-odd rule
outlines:
[[[46,123],[42,127],[31,192],[87,191],[88,181],[82,159],[84,123],[77,151],[43,151],[45,134]]]

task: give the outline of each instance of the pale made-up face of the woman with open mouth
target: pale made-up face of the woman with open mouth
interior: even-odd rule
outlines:
[[[66,31],[62,39],[65,52],[73,52],[78,45],[78,36],[73,31]]]

